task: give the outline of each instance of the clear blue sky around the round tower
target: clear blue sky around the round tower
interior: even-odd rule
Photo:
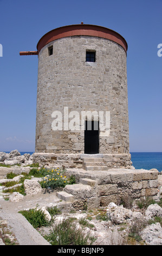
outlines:
[[[161,0],[0,0],[0,151],[35,151],[38,58],[19,52],[81,22],[126,39],[130,151],[162,151]]]

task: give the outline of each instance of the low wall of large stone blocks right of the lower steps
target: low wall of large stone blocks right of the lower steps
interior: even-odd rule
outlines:
[[[114,169],[108,172],[90,172],[83,169],[68,169],[68,173],[75,175],[77,182],[84,178],[98,182],[96,195],[93,197],[95,207],[107,206],[111,202],[118,204],[126,197],[158,199],[159,173],[156,170]],[[91,199],[87,197],[90,204]]]

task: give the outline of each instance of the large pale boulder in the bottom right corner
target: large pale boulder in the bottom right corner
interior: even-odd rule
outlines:
[[[160,223],[148,225],[141,231],[141,237],[147,245],[162,245],[162,228]]]

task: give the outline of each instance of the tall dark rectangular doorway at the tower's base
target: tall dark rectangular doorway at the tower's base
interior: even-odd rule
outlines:
[[[85,154],[99,154],[99,122],[85,122]]]

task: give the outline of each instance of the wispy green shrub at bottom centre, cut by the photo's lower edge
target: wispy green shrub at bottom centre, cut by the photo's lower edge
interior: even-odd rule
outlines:
[[[51,245],[90,245],[89,233],[84,233],[83,230],[78,229],[75,222],[65,218],[62,222],[55,225],[49,235],[44,238],[51,243]]]

